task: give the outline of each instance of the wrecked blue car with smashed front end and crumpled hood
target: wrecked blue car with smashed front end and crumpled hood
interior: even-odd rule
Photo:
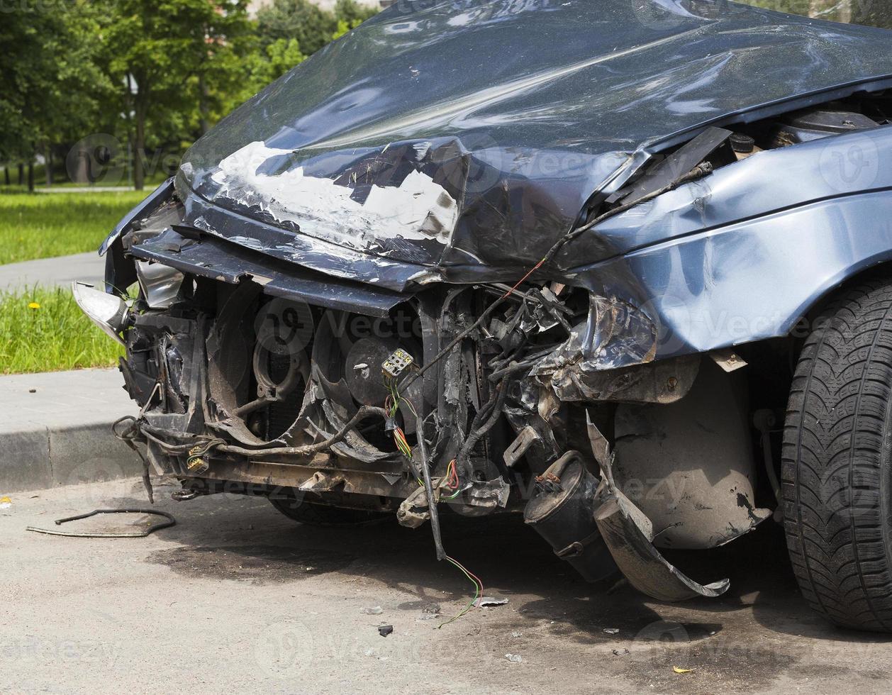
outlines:
[[[212,128],[78,303],[178,499],[524,520],[586,579],[781,523],[892,628],[892,34],[720,0],[402,2]],[[671,553],[670,553],[671,554]]]

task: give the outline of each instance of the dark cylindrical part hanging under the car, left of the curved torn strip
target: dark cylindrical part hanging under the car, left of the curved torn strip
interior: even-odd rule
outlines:
[[[524,509],[524,521],[589,582],[617,571],[594,519],[598,484],[579,452],[567,451],[536,478],[533,497]]]

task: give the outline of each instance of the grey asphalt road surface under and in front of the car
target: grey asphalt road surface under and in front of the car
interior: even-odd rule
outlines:
[[[890,637],[814,615],[771,522],[721,549],[674,554],[699,581],[730,577],[731,590],[661,604],[583,582],[516,515],[444,514],[447,550],[508,603],[441,627],[471,587],[436,562],[428,526],[312,528],[262,499],[174,502],[174,489],[159,483],[156,499],[178,524],[127,540],[25,526],[145,506],[134,478],[0,502],[0,691],[889,690]],[[127,526],[95,517],[63,528]]]

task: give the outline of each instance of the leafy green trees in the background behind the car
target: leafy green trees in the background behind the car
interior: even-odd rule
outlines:
[[[61,171],[72,145],[104,134],[120,143],[112,164],[132,163],[141,186],[236,105],[376,12],[354,0],[339,0],[334,12],[273,0],[252,21],[247,4],[8,3],[0,15],[0,161],[54,152]]]

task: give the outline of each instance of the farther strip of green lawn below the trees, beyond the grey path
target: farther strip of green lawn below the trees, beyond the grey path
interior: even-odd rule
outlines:
[[[150,192],[0,195],[0,264],[95,251]]]

